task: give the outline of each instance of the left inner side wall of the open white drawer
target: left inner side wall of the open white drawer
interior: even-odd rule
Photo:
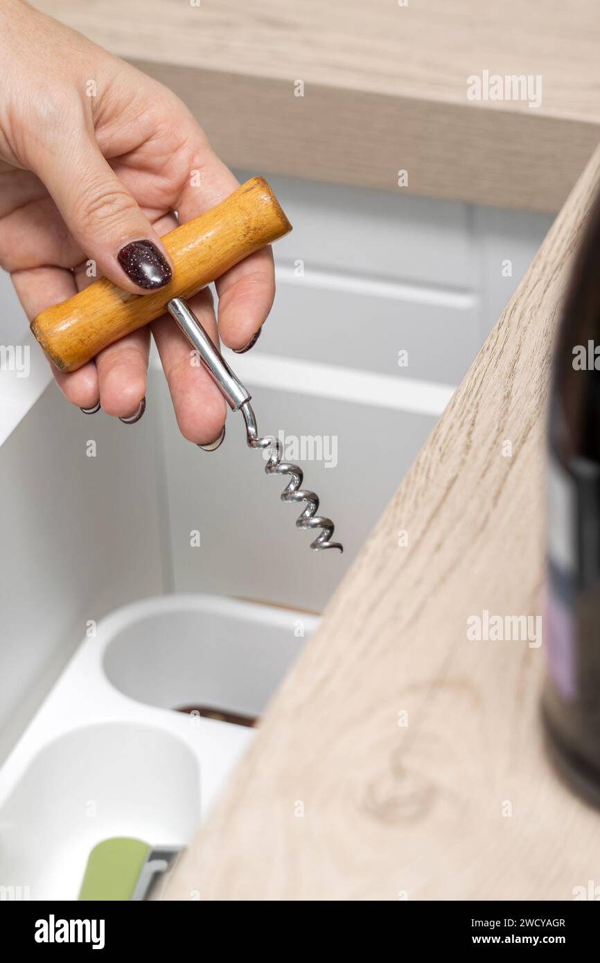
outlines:
[[[0,758],[86,622],[165,589],[152,420],[84,415],[51,384],[0,446]]]

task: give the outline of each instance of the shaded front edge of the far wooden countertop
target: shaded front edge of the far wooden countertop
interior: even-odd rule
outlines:
[[[561,208],[600,124],[458,101],[131,61],[175,91],[231,167],[539,212]],[[399,170],[408,184],[399,188]]]

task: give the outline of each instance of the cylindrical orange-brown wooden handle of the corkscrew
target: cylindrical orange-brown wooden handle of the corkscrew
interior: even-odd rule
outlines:
[[[174,271],[160,291],[134,295],[101,277],[41,311],[31,329],[60,371],[76,371],[98,351],[159,318],[171,298],[191,297],[291,229],[267,181],[253,177],[217,207],[163,237]]]

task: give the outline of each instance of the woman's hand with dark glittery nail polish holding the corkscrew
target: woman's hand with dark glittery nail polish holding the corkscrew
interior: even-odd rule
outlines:
[[[160,237],[176,226],[173,211],[190,221],[237,186],[172,91],[21,0],[0,0],[0,90],[0,266],[30,320],[91,283],[94,266],[127,291],[162,287],[171,265]],[[222,341],[247,350],[273,303],[271,250],[223,274],[217,288]],[[210,292],[191,303],[218,342]],[[212,442],[225,419],[218,388],[190,363],[170,317],[151,328],[179,428]],[[99,401],[133,419],[143,411],[148,348],[144,327],[79,371],[54,375],[69,402]]]

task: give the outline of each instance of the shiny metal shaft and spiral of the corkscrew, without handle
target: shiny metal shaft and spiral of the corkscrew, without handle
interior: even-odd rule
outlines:
[[[231,371],[222,357],[221,351],[213,344],[194,312],[181,298],[171,299],[167,304],[167,309],[193,349],[197,351],[200,360],[217,383],[227,404],[233,411],[242,412],[246,423],[248,446],[262,451],[268,450],[266,473],[268,475],[288,476],[289,481],[281,493],[281,501],[305,503],[305,508],[302,509],[297,519],[297,527],[309,530],[321,529],[315,540],[311,542],[310,547],[315,552],[321,552],[328,548],[337,548],[340,552],[343,552],[344,549],[340,542],[331,541],[333,534],[331,519],[317,514],[319,509],[318,496],[314,491],[302,489],[303,474],[300,466],[289,461],[282,461],[281,442],[274,435],[259,437],[248,389],[242,384],[239,377]]]

